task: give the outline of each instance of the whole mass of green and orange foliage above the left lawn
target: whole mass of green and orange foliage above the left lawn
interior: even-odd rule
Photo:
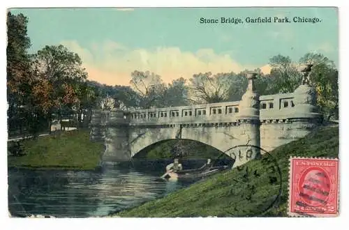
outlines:
[[[84,82],[87,72],[80,57],[63,45],[29,55],[27,17],[10,12],[7,17],[8,130],[36,136],[50,130],[53,113],[91,109],[96,97]]]

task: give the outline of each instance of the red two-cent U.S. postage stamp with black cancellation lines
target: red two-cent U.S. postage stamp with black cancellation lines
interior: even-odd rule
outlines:
[[[339,210],[339,160],[290,158],[288,215],[334,217]]]

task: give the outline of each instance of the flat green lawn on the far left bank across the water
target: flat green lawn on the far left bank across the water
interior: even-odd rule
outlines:
[[[103,149],[103,144],[89,141],[88,130],[62,132],[22,141],[24,155],[8,156],[8,167],[95,169]]]

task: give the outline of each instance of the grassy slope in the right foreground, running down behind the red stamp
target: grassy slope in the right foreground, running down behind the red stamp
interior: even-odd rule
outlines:
[[[338,127],[320,128],[262,160],[207,178],[115,215],[121,217],[287,216],[290,156],[336,158]],[[279,169],[280,173],[279,173]]]

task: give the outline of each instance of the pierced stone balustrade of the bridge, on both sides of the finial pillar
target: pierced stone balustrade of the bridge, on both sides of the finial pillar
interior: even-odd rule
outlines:
[[[288,118],[295,110],[294,93],[260,96],[260,120]],[[139,109],[130,112],[131,123],[236,121],[239,101],[184,107]]]

